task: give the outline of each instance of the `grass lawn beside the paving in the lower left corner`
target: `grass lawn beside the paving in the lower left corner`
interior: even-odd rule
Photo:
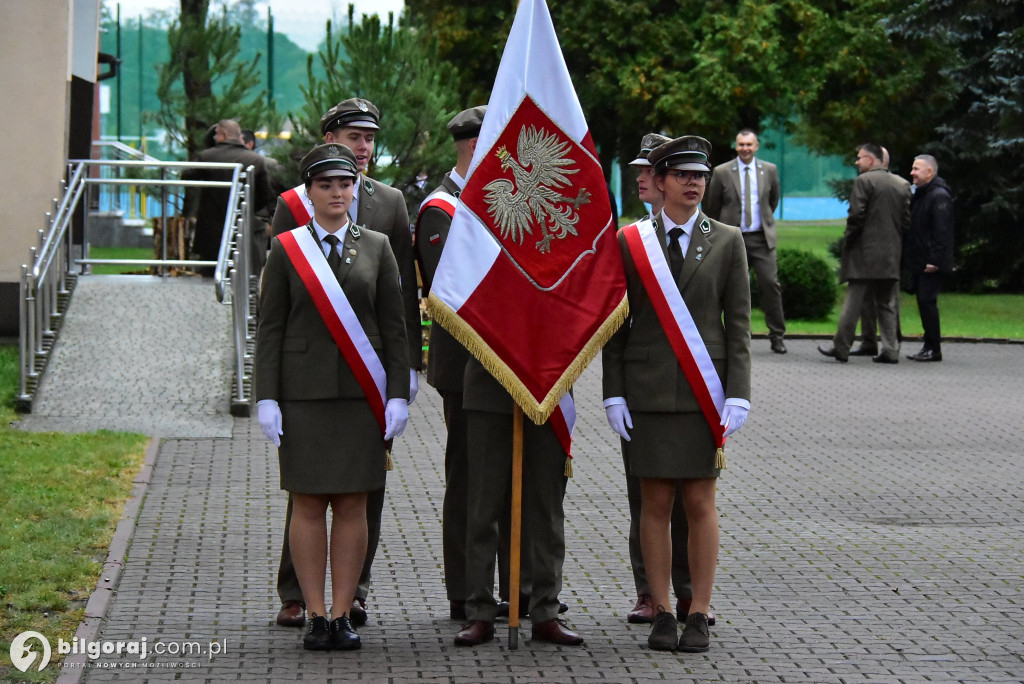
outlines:
[[[14,430],[16,387],[17,349],[0,347],[0,681],[54,681],[56,640],[82,619],[147,439]],[[43,672],[2,665],[26,630],[54,648]]]

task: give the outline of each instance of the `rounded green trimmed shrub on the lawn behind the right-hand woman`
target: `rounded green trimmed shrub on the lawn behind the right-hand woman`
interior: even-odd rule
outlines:
[[[823,320],[836,304],[836,273],[821,257],[804,250],[778,250],[778,282],[786,318]],[[751,271],[751,303],[761,306],[758,279]]]

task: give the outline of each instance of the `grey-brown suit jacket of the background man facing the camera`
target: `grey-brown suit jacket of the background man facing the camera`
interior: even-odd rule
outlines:
[[[754,158],[754,168],[758,174],[758,210],[761,212],[761,228],[765,232],[768,247],[775,249],[775,209],[778,208],[778,169],[770,162]],[[739,177],[739,161],[732,160],[715,167],[711,184],[700,206],[711,218],[739,225],[743,214],[743,180]]]

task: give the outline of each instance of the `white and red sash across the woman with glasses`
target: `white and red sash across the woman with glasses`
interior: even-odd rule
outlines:
[[[696,395],[716,445],[721,448],[725,444],[725,428],[722,427],[725,389],[669,269],[654,223],[644,219],[623,228],[623,234],[679,367]]]

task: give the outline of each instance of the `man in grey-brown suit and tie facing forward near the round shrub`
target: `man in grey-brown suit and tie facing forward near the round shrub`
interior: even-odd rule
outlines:
[[[757,273],[761,288],[771,350],[784,354],[785,315],[775,254],[778,169],[755,156],[759,146],[758,135],[751,129],[736,134],[736,159],[715,167],[702,209],[708,216],[742,230],[746,263]]]

